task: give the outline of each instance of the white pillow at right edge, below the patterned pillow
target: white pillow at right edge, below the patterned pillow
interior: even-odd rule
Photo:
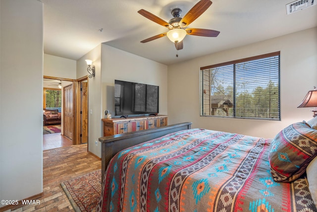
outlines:
[[[311,192],[312,198],[317,208],[317,157],[315,157],[307,166],[306,173],[309,183],[309,191]]]

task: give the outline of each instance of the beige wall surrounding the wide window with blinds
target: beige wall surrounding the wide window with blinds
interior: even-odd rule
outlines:
[[[212,48],[212,47],[211,47]],[[200,67],[280,51],[281,121],[200,117]],[[312,108],[297,108],[317,86],[317,28],[196,58],[168,67],[169,124],[193,122],[206,128],[273,138],[286,126],[313,118]]]

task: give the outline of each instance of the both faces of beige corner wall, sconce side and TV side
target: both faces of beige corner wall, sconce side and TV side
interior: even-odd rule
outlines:
[[[77,61],[77,78],[88,73],[86,59],[96,67],[96,76],[88,79],[88,149],[101,157],[101,119],[105,110],[114,115],[114,79],[159,85],[159,113],[166,115],[167,66],[101,44]]]

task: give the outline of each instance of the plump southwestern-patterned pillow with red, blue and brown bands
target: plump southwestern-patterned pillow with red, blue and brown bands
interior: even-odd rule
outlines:
[[[270,172],[275,182],[299,178],[317,155],[317,131],[305,122],[294,123],[272,140],[269,148]]]

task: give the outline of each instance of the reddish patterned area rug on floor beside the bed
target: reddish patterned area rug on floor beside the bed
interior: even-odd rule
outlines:
[[[101,196],[101,169],[60,184],[75,212],[95,212]]]

